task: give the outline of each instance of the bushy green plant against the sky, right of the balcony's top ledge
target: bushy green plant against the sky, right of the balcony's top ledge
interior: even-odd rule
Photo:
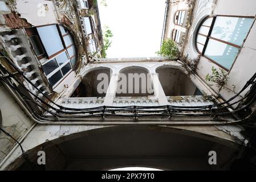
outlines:
[[[162,42],[160,51],[156,52],[159,56],[169,57],[175,59],[178,57],[177,44],[172,39],[166,39]]]

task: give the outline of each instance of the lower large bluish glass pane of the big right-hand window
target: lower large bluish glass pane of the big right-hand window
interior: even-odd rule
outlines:
[[[239,49],[222,42],[210,39],[205,50],[205,56],[216,61],[223,67],[230,69]]]

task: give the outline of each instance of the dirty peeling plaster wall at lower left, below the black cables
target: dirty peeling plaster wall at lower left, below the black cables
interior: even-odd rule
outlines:
[[[23,113],[17,102],[15,102],[3,85],[0,85],[0,109],[2,112],[3,129],[19,140],[30,129],[33,122]],[[13,139],[0,131],[0,162],[15,144],[17,143]]]

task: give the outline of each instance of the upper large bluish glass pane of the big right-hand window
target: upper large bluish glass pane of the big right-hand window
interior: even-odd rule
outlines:
[[[211,36],[241,46],[253,20],[252,18],[217,16]]]

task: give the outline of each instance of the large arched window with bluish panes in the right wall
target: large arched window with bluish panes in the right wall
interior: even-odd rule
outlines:
[[[253,18],[214,16],[198,28],[197,51],[228,71],[253,24]]]

